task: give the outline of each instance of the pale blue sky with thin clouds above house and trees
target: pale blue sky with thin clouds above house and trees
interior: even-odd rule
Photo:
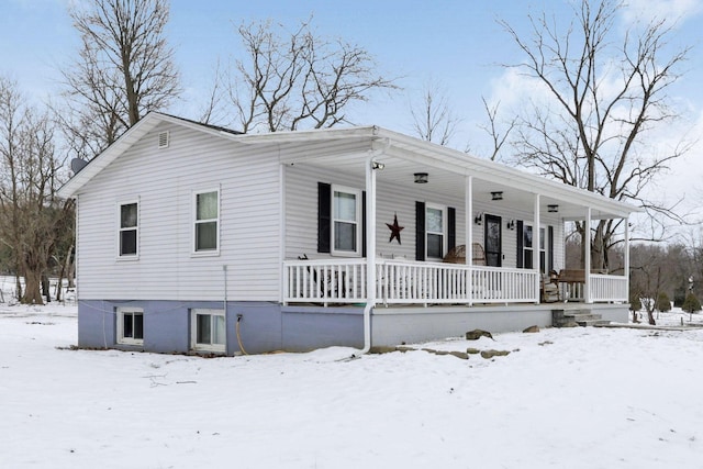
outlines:
[[[70,1],[83,0],[0,0],[0,74],[18,80],[33,98],[56,94],[57,70],[76,55],[78,36],[67,14]],[[241,51],[237,25],[272,19],[293,26],[313,15],[321,35],[339,36],[365,47],[376,57],[382,74],[400,77],[401,91],[391,97],[376,96],[368,104],[355,108],[350,115],[355,124],[412,134],[410,102],[417,102],[423,85],[433,79],[446,89],[455,113],[462,120],[454,146],[464,149],[468,145],[473,154],[484,156],[490,145],[478,129],[486,123],[481,97],[490,102],[500,100],[507,111],[531,92],[514,72],[499,65],[517,63],[522,56],[498,20],[527,32],[527,15],[543,11],[566,25],[573,9],[566,0],[171,0],[168,40],[176,49],[186,92],[169,112],[197,118],[216,62],[226,63]],[[668,130],[662,142],[678,135],[700,138],[703,0],[628,0],[617,26],[624,31],[643,14],[678,20],[673,45],[694,47],[685,75],[670,90],[684,120]],[[699,148],[674,167],[680,181],[677,193],[689,198],[703,177]],[[703,198],[695,197],[700,204]]]

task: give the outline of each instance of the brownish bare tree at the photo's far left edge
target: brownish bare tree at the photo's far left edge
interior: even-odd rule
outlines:
[[[48,111],[30,107],[15,82],[0,77],[0,228],[12,249],[23,303],[43,304],[42,276],[60,236],[71,202],[56,199],[64,160],[54,147]],[[70,230],[69,230],[70,231]]]

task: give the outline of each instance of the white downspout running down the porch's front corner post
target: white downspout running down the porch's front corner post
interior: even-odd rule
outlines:
[[[371,349],[371,310],[376,306],[376,170],[382,169],[375,159],[381,156],[390,142],[381,142],[381,147],[369,152],[366,158],[366,305],[364,306],[364,348]]]

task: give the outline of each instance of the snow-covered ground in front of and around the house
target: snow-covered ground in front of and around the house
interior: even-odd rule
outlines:
[[[76,350],[76,331],[75,306],[0,305],[0,467],[703,467],[703,328],[423,345],[511,351],[468,360]]]

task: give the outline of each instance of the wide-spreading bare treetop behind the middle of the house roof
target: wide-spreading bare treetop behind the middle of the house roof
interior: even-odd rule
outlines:
[[[226,74],[224,90],[244,133],[332,127],[371,91],[397,88],[366,49],[315,35],[310,21],[293,32],[270,21],[237,31],[246,60]]]

